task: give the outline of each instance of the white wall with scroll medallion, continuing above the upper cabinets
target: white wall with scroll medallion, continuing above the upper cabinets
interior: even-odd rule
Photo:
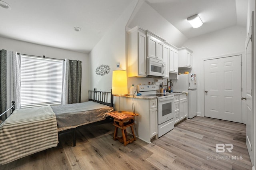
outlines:
[[[133,13],[134,10],[135,14]],[[131,15],[132,18],[130,18]],[[145,20],[145,17],[148,18],[147,16],[150,18],[150,22],[149,20]],[[128,25],[126,25],[127,23]],[[162,36],[167,40],[167,42],[169,42],[168,39],[172,40],[170,43],[174,42],[173,45],[178,46],[187,40],[180,31],[168,23],[146,2],[134,0],[124,11],[122,16],[120,16],[115,24],[107,31],[100,42],[89,53],[91,70],[90,89],[96,88],[100,91],[110,91],[112,87],[112,71],[116,69],[116,64],[120,62],[122,68],[119,69],[126,70],[128,64],[126,26],[131,28],[137,25]],[[104,76],[96,75],[96,68],[102,64],[110,66],[110,73]],[[128,77],[127,81],[129,89],[131,84],[148,84],[148,82],[154,82],[154,79]]]

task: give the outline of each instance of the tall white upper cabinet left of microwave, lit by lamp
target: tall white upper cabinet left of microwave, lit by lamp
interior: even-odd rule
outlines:
[[[146,32],[138,27],[128,31],[128,77],[146,77]]]

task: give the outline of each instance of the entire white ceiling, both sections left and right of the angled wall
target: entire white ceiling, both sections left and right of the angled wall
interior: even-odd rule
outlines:
[[[4,0],[0,36],[89,53],[132,0]],[[246,27],[248,0],[145,0],[187,38],[230,26]],[[186,18],[199,14],[198,29]],[[74,27],[81,28],[76,32]]]

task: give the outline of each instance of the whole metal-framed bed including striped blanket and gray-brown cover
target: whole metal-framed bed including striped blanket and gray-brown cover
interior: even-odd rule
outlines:
[[[73,132],[76,146],[77,128],[109,121],[106,113],[114,111],[112,92],[94,89],[88,93],[88,102],[52,107],[15,110],[13,101],[7,110],[12,114],[0,124],[0,164],[55,147],[59,134],[64,132]]]

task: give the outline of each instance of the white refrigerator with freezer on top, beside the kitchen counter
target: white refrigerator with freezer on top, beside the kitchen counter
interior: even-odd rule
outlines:
[[[188,92],[188,119],[197,115],[197,82],[196,74],[178,75],[178,80],[173,82],[173,92]]]

